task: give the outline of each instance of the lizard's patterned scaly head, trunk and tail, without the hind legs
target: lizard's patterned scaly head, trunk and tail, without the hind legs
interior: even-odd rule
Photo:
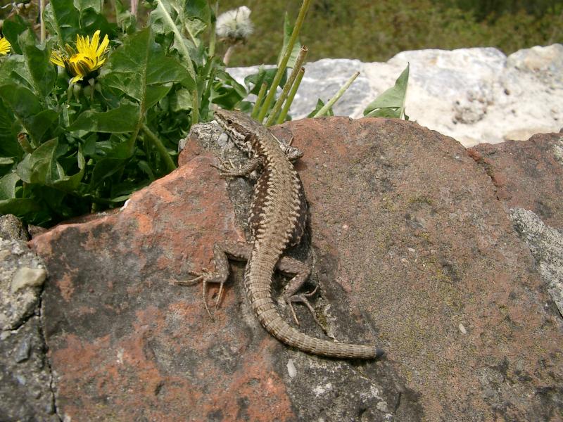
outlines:
[[[339,358],[380,357],[383,351],[374,346],[313,338],[279,315],[272,300],[272,275],[284,250],[301,238],[307,210],[301,180],[286,156],[296,158],[301,154],[243,113],[217,110],[215,120],[254,160],[260,158],[263,167],[250,217],[254,242],[244,273],[246,295],[260,324],[282,343],[303,352]]]

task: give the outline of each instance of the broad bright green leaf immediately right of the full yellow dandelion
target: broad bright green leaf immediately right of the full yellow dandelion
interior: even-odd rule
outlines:
[[[113,52],[102,68],[100,82],[139,101],[143,112],[167,94],[170,88],[164,89],[165,84],[181,82],[195,87],[178,60],[165,56],[154,42],[150,27],[127,37]]]

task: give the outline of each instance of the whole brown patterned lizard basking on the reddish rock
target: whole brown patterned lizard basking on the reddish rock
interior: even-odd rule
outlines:
[[[224,241],[215,243],[213,258],[215,271],[203,269],[191,272],[195,279],[190,284],[203,281],[203,301],[207,283],[219,283],[218,304],[223,284],[229,275],[228,257],[246,260],[244,287],[255,316],[265,330],[286,345],[298,350],[325,357],[375,359],[384,351],[371,345],[337,343],[307,335],[289,325],[277,311],[272,300],[272,276],[276,269],[284,274],[295,274],[286,288],[286,300],[296,319],[291,302],[305,302],[311,312],[306,297],[315,293],[298,295],[303,283],[308,279],[310,268],[303,262],[284,257],[286,248],[297,245],[305,231],[307,202],[303,184],[292,161],[301,158],[303,153],[279,141],[266,127],[250,116],[237,111],[216,110],[215,120],[236,146],[249,155],[249,160],[241,169],[235,170],[227,165],[214,166],[222,177],[246,176],[261,167],[256,182],[251,213],[248,218],[253,242]],[[186,283],[183,283],[186,284]],[[315,314],[313,313],[313,317]],[[316,318],[315,318],[316,320]],[[298,324],[298,320],[296,319]]]

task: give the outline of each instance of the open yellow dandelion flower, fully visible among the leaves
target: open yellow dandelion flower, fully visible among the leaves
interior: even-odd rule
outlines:
[[[84,78],[94,77],[94,72],[98,70],[106,61],[108,53],[108,36],[103,37],[100,44],[100,32],[94,32],[92,40],[90,37],[76,36],[76,50],[68,44],[65,45],[65,52],[51,52],[51,63],[61,68],[65,68],[68,75],[72,76],[70,83],[74,84]]]

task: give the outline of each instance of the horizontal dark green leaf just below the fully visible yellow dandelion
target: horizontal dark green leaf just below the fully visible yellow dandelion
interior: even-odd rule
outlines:
[[[70,131],[126,133],[134,131],[140,118],[139,106],[131,103],[106,112],[86,110],[68,128]]]

